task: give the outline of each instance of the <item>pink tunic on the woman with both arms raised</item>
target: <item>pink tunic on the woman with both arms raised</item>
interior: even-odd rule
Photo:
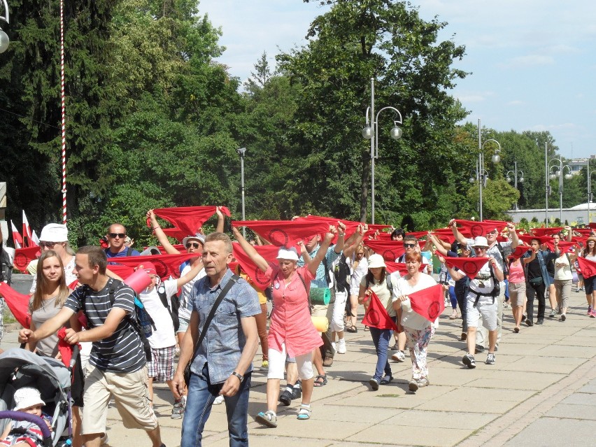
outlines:
[[[281,345],[285,343],[285,350],[290,357],[309,353],[322,345],[322,339],[311,320],[306,288],[298,275],[304,278],[306,284],[313,279],[313,274],[306,266],[296,269],[289,284],[285,283],[277,264],[271,262],[265,272],[265,276],[271,280],[274,299],[267,337],[269,348],[281,352]]]

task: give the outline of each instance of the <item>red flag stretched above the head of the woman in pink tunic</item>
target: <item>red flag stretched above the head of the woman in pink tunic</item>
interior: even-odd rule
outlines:
[[[325,234],[329,224],[322,220],[236,220],[232,227],[248,227],[274,246],[295,246],[298,241]]]

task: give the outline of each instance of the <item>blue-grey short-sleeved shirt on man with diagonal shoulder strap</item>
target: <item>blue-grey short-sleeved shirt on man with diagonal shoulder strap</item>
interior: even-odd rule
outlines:
[[[199,313],[199,336],[215,299],[218,298],[232,275],[232,270],[227,269],[222,281],[214,288],[211,288],[208,276],[194,283],[192,292],[190,292],[190,301],[192,301],[192,310]],[[203,367],[207,363],[209,381],[211,383],[225,382],[236,368],[246,344],[240,319],[260,313],[261,305],[257,292],[240,278],[238,283],[232,285],[218,306],[218,310],[215,311],[205,338],[201,346],[197,348],[197,357],[190,365],[190,371],[202,376]],[[253,371],[252,363],[246,370],[247,373],[250,371]]]

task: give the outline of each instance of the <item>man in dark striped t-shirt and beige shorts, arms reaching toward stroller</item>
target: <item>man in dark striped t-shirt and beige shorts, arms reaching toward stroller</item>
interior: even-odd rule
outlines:
[[[113,397],[127,428],[141,428],[153,447],[163,447],[157,417],[150,406],[147,390],[146,358],[141,337],[131,323],[135,318],[134,292],[127,285],[106,276],[108,260],[99,247],[86,246],[75,257],[76,274],[82,284],[66,299],[62,310],[36,331],[22,329],[21,343],[38,341],[71,322],[83,311],[88,329],[66,329],[70,344],[92,341],[83,400],[82,434],[85,446],[99,447],[106,432],[108,403]]]

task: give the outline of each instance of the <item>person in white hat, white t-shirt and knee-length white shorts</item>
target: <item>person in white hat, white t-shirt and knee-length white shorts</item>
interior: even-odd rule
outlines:
[[[476,257],[488,257],[488,261],[478,270],[476,277],[469,283],[466,296],[466,319],[468,323],[467,343],[468,353],[462,358],[462,363],[469,369],[476,368],[474,352],[476,348],[476,328],[482,316],[483,326],[488,329],[488,355],[486,364],[495,364],[495,346],[497,345],[497,310],[499,305],[499,283],[503,281],[503,271],[494,257],[488,256],[488,241],[483,236],[477,236],[472,244]],[[455,281],[464,274],[448,267],[451,278]]]

